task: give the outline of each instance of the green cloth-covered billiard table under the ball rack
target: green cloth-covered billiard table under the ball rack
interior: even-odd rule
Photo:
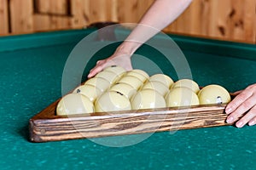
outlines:
[[[96,28],[0,37],[1,169],[255,169],[256,126],[206,127],[153,133],[126,147],[108,147],[90,139],[46,143],[29,141],[29,119],[62,95],[61,80],[68,56]],[[200,86],[216,83],[230,92],[256,82],[256,45],[172,35]],[[98,43],[104,40],[97,39]],[[97,43],[97,42],[94,42]],[[112,54],[117,43],[102,48],[86,65],[86,80],[96,60]],[[165,48],[165,47],[163,47]],[[86,54],[87,51],[84,51]],[[160,52],[143,46],[137,55],[152,60],[177,80]],[[135,68],[154,74],[143,60]],[[143,134],[122,135],[115,139]],[[111,137],[100,138],[104,141]]]

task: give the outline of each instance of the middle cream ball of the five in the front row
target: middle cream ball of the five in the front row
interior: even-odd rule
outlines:
[[[132,110],[154,109],[166,107],[164,97],[153,89],[143,89],[131,99]]]

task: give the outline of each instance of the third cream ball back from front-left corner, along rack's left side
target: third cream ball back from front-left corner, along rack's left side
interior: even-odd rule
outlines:
[[[110,88],[110,82],[102,77],[92,77],[88,79],[84,85],[91,85],[99,88],[102,92],[105,92],[108,88]]]

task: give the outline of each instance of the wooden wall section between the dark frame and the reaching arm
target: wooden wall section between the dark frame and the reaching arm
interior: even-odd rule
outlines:
[[[132,1],[133,2],[123,0],[74,0],[72,3],[73,27],[88,26],[91,23],[99,21],[137,23],[140,16],[144,14],[154,0]],[[77,8],[78,6],[82,7],[82,9]]]

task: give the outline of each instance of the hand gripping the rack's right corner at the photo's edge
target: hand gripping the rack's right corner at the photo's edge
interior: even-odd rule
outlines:
[[[229,116],[226,122],[236,122],[236,127],[243,127],[256,124],[256,84],[248,86],[246,89],[236,92],[238,95],[227,105],[225,111]]]

